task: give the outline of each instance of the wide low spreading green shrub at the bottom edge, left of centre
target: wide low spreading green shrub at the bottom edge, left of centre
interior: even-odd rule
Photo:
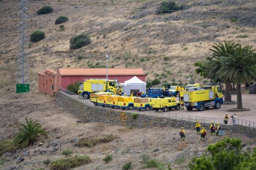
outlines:
[[[75,156],[70,158],[58,159],[50,165],[50,170],[69,170],[70,168],[79,167],[89,164],[91,159],[89,156]]]

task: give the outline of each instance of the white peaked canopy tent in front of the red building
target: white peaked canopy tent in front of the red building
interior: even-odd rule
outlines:
[[[140,80],[138,77],[134,76],[133,78],[125,81],[124,83],[121,83],[123,86],[123,91],[128,96],[131,95],[132,92],[144,92],[146,93],[146,83]]]

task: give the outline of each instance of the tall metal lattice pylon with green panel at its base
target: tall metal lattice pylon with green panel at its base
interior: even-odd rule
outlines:
[[[17,85],[16,93],[29,92],[29,62],[27,43],[27,3],[19,0],[19,40],[17,54]]]

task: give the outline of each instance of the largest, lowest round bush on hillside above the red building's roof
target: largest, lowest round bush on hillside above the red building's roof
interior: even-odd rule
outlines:
[[[90,44],[90,37],[85,34],[76,35],[70,38],[70,49],[81,48],[84,45]]]

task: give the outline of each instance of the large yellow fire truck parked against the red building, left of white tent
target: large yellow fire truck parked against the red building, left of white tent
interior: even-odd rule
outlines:
[[[122,85],[119,85],[117,79],[84,79],[80,83],[78,94],[85,99],[90,98],[91,93],[113,92],[114,94],[123,94]]]

